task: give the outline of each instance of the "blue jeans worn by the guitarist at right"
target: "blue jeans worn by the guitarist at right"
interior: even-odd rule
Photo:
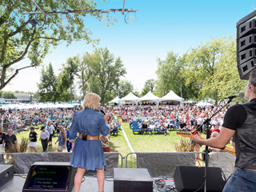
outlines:
[[[256,191],[256,171],[235,167],[222,192]]]

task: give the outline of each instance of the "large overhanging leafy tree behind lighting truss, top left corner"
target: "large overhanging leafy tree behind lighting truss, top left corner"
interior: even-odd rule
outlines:
[[[80,1],[84,10],[95,10],[97,2]],[[56,0],[37,1],[44,11],[80,10],[77,1]],[[0,90],[2,90],[19,72],[29,67],[39,66],[43,58],[50,53],[50,47],[56,48],[60,43],[84,41],[97,44],[99,39],[91,39],[92,32],[85,26],[82,14],[67,14],[70,22],[62,26],[62,14],[37,14],[38,26],[29,29],[26,24],[35,17],[22,14],[38,12],[30,0],[2,0],[0,5]],[[99,13],[90,14],[101,18]],[[30,65],[18,66],[24,58],[30,59]],[[15,66],[17,65],[17,67]]]

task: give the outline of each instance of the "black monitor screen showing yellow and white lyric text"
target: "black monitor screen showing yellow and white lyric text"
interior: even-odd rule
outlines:
[[[35,162],[30,166],[22,191],[71,192],[74,174],[69,162]]]

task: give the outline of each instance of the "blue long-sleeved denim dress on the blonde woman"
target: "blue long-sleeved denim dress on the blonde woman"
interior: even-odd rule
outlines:
[[[102,169],[103,166],[106,166],[106,160],[101,141],[83,141],[82,138],[76,138],[77,133],[83,134],[86,132],[91,136],[98,136],[100,133],[103,135],[108,134],[109,128],[106,126],[104,115],[99,113],[98,110],[86,107],[85,110],[74,113],[69,138],[70,142],[75,143],[70,158],[70,165],[85,168],[86,170]]]

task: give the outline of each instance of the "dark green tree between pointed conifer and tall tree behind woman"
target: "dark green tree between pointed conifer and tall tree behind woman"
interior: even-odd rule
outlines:
[[[68,58],[62,64],[61,73],[58,74],[58,94],[59,100],[63,102],[72,101],[74,91],[74,78],[78,74],[78,57]]]

